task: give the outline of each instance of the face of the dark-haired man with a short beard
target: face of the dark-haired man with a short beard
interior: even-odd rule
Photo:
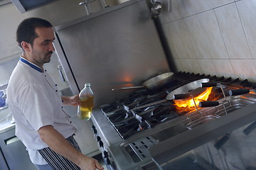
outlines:
[[[50,62],[50,57],[55,50],[53,47],[53,28],[36,28],[38,38],[33,40],[33,46],[29,52],[31,62],[43,67],[43,64]]]

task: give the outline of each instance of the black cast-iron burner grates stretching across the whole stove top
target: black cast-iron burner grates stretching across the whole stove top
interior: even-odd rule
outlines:
[[[127,97],[121,98],[113,103],[100,106],[100,109],[117,130],[119,135],[123,139],[126,139],[138,132],[154,128],[154,126],[159,125],[160,123],[178,118],[179,116],[183,116],[188,113],[185,111],[178,113],[176,111],[176,106],[173,105],[173,101],[166,101],[148,108],[131,111],[133,108],[147,103],[152,103],[154,101],[160,101],[166,98],[171,91],[174,91],[178,87],[188,84],[191,81],[206,78],[213,82],[225,84],[225,86],[233,86],[235,88],[256,88],[256,84],[250,83],[247,79],[240,81],[239,79],[225,79],[225,77],[210,77],[210,75],[206,76],[205,74],[178,72],[174,74],[174,78],[162,89],[155,89],[151,91],[147,89],[137,90]],[[223,94],[220,88],[213,87],[213,93],[210,94],[208,100],[213,101],[217,97],[223,98]]]

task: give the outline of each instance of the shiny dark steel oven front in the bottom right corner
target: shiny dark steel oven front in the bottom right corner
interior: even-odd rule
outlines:
[[[256,169],[255,128],[256,122],[249,123],[174,159],[154,161],[164,170]]]

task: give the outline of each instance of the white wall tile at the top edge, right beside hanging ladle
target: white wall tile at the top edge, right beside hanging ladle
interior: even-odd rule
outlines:
[[[193,0],[162,0],[161,2],[164,6],[159,16],[162,24],[192,16],[196,13]],[[169,2],[171,3],[170,6]]]

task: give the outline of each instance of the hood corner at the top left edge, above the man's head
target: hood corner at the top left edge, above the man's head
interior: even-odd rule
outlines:
[[[53,1],[56,0],[36,0],[36,1],[31,1],[31,0],[11,0],[12,3],[18,8],[18,11],[21,13],[24,13],[26,11],[29,11],[33,8],[38,8],[40,6],[50,4]]]

